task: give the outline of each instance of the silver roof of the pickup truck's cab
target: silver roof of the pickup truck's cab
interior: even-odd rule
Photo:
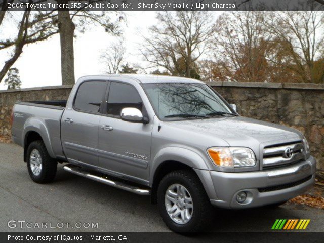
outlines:
[[[148,84],[148,83],[156,83],[157,80],[160,83],[201,83],[196,79],[186,78],[186,77],[177,77],[177,76],[167,76],[167,75],[151,75],[151,74],[106,74],[106,75],[88,75],[82,76],[79,79],[89,80],[89,79],[97,79],[97,78],[109,78],[109,77],[123,77],[130,78],[136,80],[138,83]]]

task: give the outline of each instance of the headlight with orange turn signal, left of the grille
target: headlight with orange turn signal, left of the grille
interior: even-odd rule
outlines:
[[[246,167],[256,164],[254,152],[250,148],[212,147],[207,152],[217,166]]]

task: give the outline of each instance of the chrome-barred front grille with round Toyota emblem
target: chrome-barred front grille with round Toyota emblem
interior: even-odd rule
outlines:
[[[291,150],[291,156],[288,156],[287,151]],[[285,164],[292,164],[305,159],[305,148],[302,141],[293,143],[276,144],[266,146],[263,149],[263,167],[269,168]]]

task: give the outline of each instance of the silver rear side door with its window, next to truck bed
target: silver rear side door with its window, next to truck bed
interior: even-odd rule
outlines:
[[[87,80],[80,84],[73,106],[61,119],[61,139],[70,163],[98,167],[98,126],[108,82]]]

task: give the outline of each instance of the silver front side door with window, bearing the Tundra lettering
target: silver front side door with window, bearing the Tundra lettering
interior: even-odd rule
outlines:
[[[124,82],[109,83],[106,108],[99,123],[99,165],[106,173],[146,184],[152,122],[131,123],[120,119],[120,111],[126,107],[144,112],[145,107],[137,91],[141,87]],[[110,129],[105,129],[107,127]]]

